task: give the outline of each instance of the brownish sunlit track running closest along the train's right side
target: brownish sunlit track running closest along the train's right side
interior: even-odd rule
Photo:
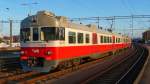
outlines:
[[[29,76],[24,76],[24,77],[18,75],[18,78],[15,76],[12,76],[12,78],[10,77],[10,78],[6,78],[5,80],[3,79],[2,80],[4,81],[3,83],[12,82],[12,81],[15,81],[15,83],[19,83],[19,84],[44,83],[47,81],[59,79],[60,77],[79,71],[80,69],[86,69],[87,67],[92,66],[96,63],[99,63],[100,61],[105,60],[105,59],[112,59],[112,58],[111,56],[108,56],[108,57],[104,57],[96,61],[82,64],[80,66],[74,66],[72,68],[68,68],[68,69],[56,71],[56,72],[51,72],[48,74],[35,73],[33,75],[31,74]],[[22,77],[22,78],[19,78],[19,77]]]

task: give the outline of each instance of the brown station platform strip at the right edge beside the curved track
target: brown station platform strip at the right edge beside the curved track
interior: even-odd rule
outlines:
[[[135,82],[134,84],[150,84],[150,45],[146,47],[149,49],[149,56],[140,73],[138,82]]]

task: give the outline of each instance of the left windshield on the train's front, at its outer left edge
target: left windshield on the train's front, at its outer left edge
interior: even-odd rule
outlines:
[[[21,41],[24,41],[24,42],[30,41],[31,40],[30,28],[21,29],[20,35],[21,35],[21,38],[20,38]]]

